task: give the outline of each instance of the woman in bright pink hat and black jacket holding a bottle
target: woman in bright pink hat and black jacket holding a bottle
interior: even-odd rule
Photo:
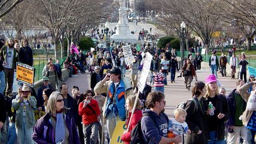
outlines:
[[[206,95],[204,98],[204,107],[207,109],[209,103],[213,104],[214,113],[210,115],[210,109],[207,110],[207,122],[209,136],[209,144],[225,143],[225,126],[224,122],[230,117],[230,109],[228,108],[227,99],[224,95],[219,94],[217,79],[214,74],[210,74],[206,78]]]

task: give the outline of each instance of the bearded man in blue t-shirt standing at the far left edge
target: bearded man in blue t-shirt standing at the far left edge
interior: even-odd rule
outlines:
[[[7,82],[7,88],[5,95],[11,95],[13,91],[13,77],[14,70],[16,69],[16,62],[19,61],[19,54],[14,49],[14,41],[12,38],[8,39],[7,46],[2,47],[0,51],[2,65],[4,66],[5,82]]]

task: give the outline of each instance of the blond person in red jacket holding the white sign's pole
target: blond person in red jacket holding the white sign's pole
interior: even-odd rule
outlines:
[[[132,132],[132,129],[136,126],[139,119],[141,119],[142,117],[141,103],[139,103],[139,101],[136,103],[135,111],[132,115],[132,108],[135,105],[135,100],[136,100],[135,95],[130,95],[126,99],[126,110],[129,112],[129,117],[126,119],[126,125],[129,125],[129,121],[130,121],[130,127],[128,131],[124,131],[124,134],[121,137],[121,140],[125,144],[129,144],[131,142],[130,134]],[[132,115],[132,118],[131,118],[131,115]]]

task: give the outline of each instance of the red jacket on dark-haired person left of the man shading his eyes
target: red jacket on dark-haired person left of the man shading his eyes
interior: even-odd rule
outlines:
[[[84,101],[82,101],[78,107],[78,113],[82,116],[82,121],[85,125],[92,124],[93,122],[98,121],[97,116],[100,115],[100,107],[96,100],[91,100],[91,103],[89,103],[88,105],[91,106],[91,108],[93,108],[96,113],[93,112],[93,110],[91,110],[88,106],[83,107]]]

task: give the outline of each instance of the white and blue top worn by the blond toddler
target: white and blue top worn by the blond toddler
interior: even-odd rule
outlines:
[[[189,129],[189,126],[186,122],[180,123],[176,121],[175,118],[170,119],[168,124],[168,130],[172,130],[172,133],[175,134],[175,136],[180,136],[183,133],[186,133]]]

